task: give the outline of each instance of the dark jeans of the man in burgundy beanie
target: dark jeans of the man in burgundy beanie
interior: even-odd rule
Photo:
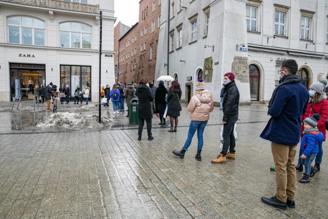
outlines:
[[[223,132],[222,132],[222,137],[223,137],[223,147],[221,154],[224,156],[227,155],[228,149],[230,152],[236,152],[235,147],[236,147],[236,140],[235,140],[235,135],[234,135],[234,127],[235,124],[238,120],[238,115],[232,115],[229,117],[228,121],[226,124],[223,124]]]

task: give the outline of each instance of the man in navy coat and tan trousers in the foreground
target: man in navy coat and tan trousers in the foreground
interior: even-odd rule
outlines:
[[[268,104],[271,118],[260,137],[271,142],[276,165],[276,195],[261,200],[272,207],[295,208],[296,169],[294,159],[300,140],[301,115],[309,102],[309,92],[296,75],[298,65],[294,59],[281,63],[279,86],[273,91]]]

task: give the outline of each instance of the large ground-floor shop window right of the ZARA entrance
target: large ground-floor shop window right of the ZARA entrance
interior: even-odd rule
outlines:
[[[91,67],[90,66],[60,66],[60,86],[69,85],[71,88],[71,97],[74,97],[74,91],[78,85],[84,91],[86,87],[91,88]],[[91,95],[89,96],[89,98]]]

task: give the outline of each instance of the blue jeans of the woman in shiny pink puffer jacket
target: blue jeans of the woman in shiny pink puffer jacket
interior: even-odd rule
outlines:
[[[188,137],[185,145],[182,147],[182,150],[188,150],[191,141],[193,140],[193,136],[197,130],[197,138],[198,138],[198,147],[197,150],[201,150],[203,148],[203,132],[207,125],[208,121],[190,121]]]

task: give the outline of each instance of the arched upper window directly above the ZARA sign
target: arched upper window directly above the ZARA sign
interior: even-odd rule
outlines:
[[[45,28],[45,22],[34,17],[8,17],[9,43],[44,46]]]

